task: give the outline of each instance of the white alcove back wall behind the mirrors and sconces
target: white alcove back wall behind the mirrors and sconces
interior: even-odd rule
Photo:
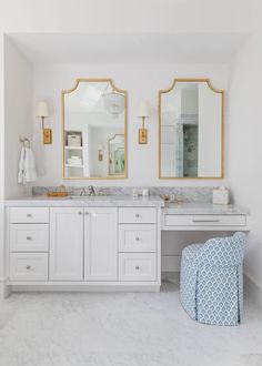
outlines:
[[[61,91],[74,85],[77,78],[112,78],[115,85],[128,91],[128,180],[114,181],[115,185],[215,185],[221,181],[164,181],[158,179],[158,92],[171,85],[174,78],[210,78],[215,88],[228,89],[229,68],[219,64],[37,64],[33,68],[33,104],[46,99],[51,105],[52,116],[47,121],[53,129],[52,145],[41,144],[40,122],[34,119],[34,145],[41,176],[36,184],[61,183]],[[147,99],[153,115],[147,120],[149,144],[138,144],[137,118],[140,100]],[[226,145],[225,145],[226,149]],[[226,160],[226,155],[225,155]],[[144,169],[147,166],[147,170]],[[101,181],[92,181],[100,184]],[[83,184],[83,182],[69,182]],[[112,181],[102,184],[112,185]]]

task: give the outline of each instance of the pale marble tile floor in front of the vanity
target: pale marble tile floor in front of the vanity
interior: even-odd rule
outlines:
[[[191,321],[175,282],[161,293],[16,293],[0,305],[0,366],[260,366],[262,312]]]

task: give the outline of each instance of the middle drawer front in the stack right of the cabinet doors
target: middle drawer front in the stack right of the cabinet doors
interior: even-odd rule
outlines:
[[[155,252],[157,227],[151,224],[119,225],[120,252]]]

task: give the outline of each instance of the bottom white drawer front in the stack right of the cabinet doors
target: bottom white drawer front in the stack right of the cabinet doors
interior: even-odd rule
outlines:
[[[120,281],[155,281],[155,254],[121,253],[119,255]]]

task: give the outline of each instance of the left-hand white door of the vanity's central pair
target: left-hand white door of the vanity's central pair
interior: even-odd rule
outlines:
[[[50,210],[50,279],[83,279],[83,209]]]

